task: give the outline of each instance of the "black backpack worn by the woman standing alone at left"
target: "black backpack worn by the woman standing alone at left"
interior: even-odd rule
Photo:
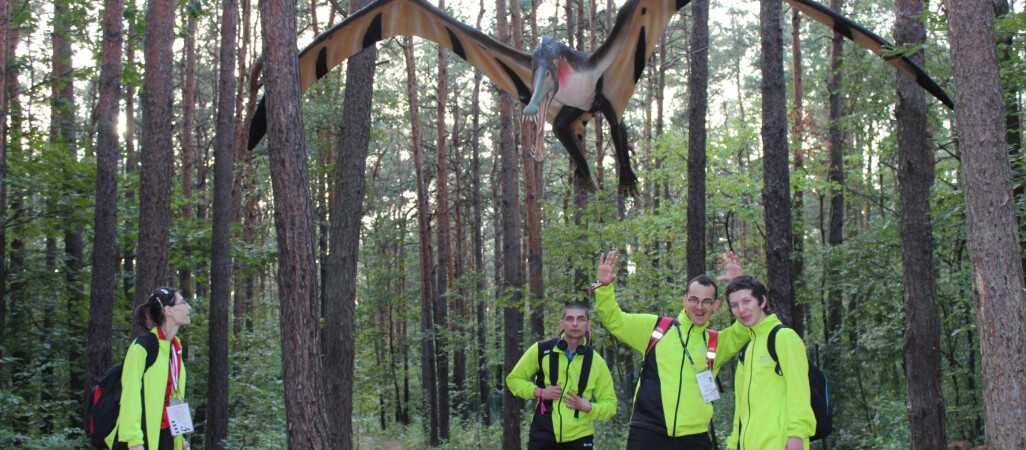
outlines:
[[[153,333],[143,333],[135,338],[135,343],[146,350],[146,370],[157,360],[157,336]],[[107,436],[114,431],[118,422],[118,412],[121,409],[121,371],[124,363],[111,367],[96,385],[89,390],[85,402],[85,434],[89,443],[96,448],[107,448]]]

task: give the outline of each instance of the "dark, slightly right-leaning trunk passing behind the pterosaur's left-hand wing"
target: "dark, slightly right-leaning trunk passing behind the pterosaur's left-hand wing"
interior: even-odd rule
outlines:
[[[366,0],[354,2],[353,10]],[[353,367],[356,355],[356,262],[366,189],[370,101],[373,97],[377,47],[349,58],[346,70],[345,118],[339,133],[334,169],[334,202],[324,280],[324,402],[328,443],[332,449],[353,448]]]

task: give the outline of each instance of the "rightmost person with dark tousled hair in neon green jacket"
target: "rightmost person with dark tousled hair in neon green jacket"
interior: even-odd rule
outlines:
[[[808,448],[816,433],[816,415],[810,403],[808,356],[801,337],[790,328],[777,332],[777,362],[770,356],[770,333],[781,325],[766,314],[766,287],[748,276],[731,281],[726,301],[751,338],[738,355],[734,375],[734,431],[729,449]]]

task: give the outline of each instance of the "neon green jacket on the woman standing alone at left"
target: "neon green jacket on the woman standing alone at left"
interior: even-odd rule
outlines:
[[[157,334],[157,329],[150,330]],[[177,339],[175,337],[174,339]],[[181,341],[180,341],[181,342]],[[170,374],[169,364],[171,342],[157,339],[157,359],[144,373],[146,368],[146,349],[133,340],[128,345],[125,362],[121,372],[121,409],[118,412],[118,422],[114,431],[107,436],[107,446],[114,445],[114,439],[128,445],[145,445],[149,450],[156,450],[160,441],[160,421],[164,415],[164,394],[167,392],[167,377]],[[185,402],[186,367],[182,365],[179,375],[179,392],[171,394],[172,399]],[[142,397],[141,397],[142,396]],[[144,399],[146,400],[144,404]],[[143,423],[144,408],[146,423]],[[143,426],[146,426],[144,442]],[[174,448],[182,450],[183,437],[174,437]]]

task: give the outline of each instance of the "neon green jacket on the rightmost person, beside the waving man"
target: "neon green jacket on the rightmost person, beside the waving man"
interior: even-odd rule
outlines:
[[[734,376],[734,432],[726,441],[729,449],[784,448],[792,436],[801,438],[808,448],[808,437],[816,433],[804,342],[790,328],[777,332],[777,359],[783,376],[777,374],[777,363],[766,349],[770,331],[780,323],[777,315],[770,315],[747,328],[752,341],[744,361],[738,357]]]

